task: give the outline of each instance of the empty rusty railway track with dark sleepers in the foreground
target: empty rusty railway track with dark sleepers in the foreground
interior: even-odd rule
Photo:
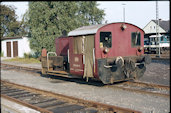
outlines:
[[[98,102],[78,99],[1,80],[1,98],[41,113],[141,113]]]

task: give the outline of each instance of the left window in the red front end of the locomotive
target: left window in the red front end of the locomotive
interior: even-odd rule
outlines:
[[[112,33],[111,32],[100,32],[100,48],[112,47]]]

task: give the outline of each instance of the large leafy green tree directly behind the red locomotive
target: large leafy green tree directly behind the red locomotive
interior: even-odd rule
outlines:
[[[29,2],[31,48],[40,53],[45,47],[55,51],[54,39],[84,25],[100,24],[104,11],[95,1],[89,2]]]

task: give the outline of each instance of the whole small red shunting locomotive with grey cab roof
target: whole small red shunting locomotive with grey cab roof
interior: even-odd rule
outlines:
[[[56,38],[55,46],[56,52],[42,57],[42,74],[76,75],[112,84],[142,77],[151,62],[144,55],[144,31],[130,23],[83,26]]]

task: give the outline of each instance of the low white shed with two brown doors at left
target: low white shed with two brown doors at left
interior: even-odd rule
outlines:
[[[24,53],[31,53],[29,40],[28,37],[3,37],[1,39],[3,57],[24,57]]]

